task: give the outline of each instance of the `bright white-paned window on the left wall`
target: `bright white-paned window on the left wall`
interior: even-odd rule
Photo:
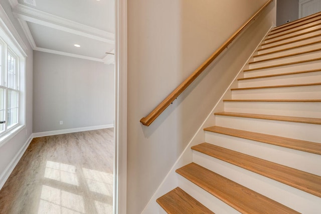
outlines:
[[[25,125],[25,60],[0,29],[0,145]]]

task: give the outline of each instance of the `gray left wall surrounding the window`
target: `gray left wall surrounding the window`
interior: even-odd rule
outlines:
[[[20,159],[20,156],[26,149],[29,143],[29,137],[32,134],[33,127],[33,51],[27,38],[24,36],[23,30],[18,21],[14,18],[11,6],[8,1],[1,1],[1,7],[5,10],[8,18],[16,29],[17,33],[23,40],[26,46],[27,54],[27,69],[26,69],[26,127],[22,129],[17,135],[10,139],[6,144],[0,147],[0,188],[10,175],[11,171]],[[6,15],[4,15],[6,16]],[[7,27],[9,23],[6,23]],[[10,29],[11,30],[11,29]],[[15,33],[13,33],[15,36]],[[21,44],[23,45],[23,44]]]

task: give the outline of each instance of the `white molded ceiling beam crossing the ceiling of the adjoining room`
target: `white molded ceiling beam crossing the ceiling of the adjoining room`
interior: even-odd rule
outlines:
[[[28,6],[18,4],[13,8],[13,13],[16,18],[27,22],[32,22],[109,44],[115,44],[115,35],[113,33],[70,21]]]

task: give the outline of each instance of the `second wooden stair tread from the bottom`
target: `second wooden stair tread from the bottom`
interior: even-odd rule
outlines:
[[[298,213],[196,163],[176,172],[242,213]]]

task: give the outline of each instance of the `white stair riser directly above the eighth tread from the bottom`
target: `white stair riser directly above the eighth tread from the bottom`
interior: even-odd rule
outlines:
[[[321,60],[311,61],[306,63],[296,63],[285,66],[277,66],[272,68],[261,68],[256,70],[244,71],[244,78],[247,77],[258,77],[265,75],[273,75],[273,74],[284,74],[290,72],[299,72],[299,71],[309,71],[314,69],[321,68]]]

